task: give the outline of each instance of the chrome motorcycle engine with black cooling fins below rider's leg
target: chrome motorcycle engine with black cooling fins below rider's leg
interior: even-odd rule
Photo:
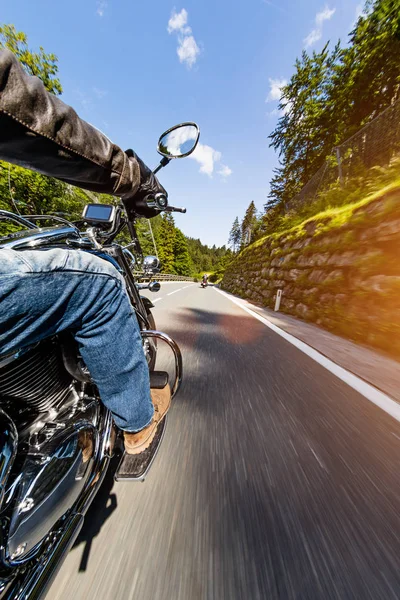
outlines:
[[[1,559],[6,567],[34,556],[90,477],[101,405],[84,386],[66,370],[57,338],[0,363]]]

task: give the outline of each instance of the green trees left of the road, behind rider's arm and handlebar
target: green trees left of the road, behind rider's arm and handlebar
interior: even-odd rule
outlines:
[[[14,25],[0,25],[0,48],[2,47],[11,50],[26,72],[39,77],[49,92],[61,94],[61,83],[56,77],[57,57],[54,54],[46,54],[43,48],[39,52],[30,50],[26,34],[17,31]],[[117,199],[105,194],[86,192],[57,179],[0,161],[0,208],[4,210],[27,215],[57,214],[73,221],[81,217],[84,205],[93,201],[114,204]],[[137,220],[136,230],[143,253],[155,254],[158,251],[165,273],[193,275],[210,272],[220,268],[224,257],[231,255],[225,246],[209,248],[200,240],[186,238],[175,227],[171,213],[151,219],[151,227],[156,248],[149,221]],[[7,234],[16,228],[8,222],[0,223],[0,234]],[[126,231],[119,235],[118,241],[130,241]]]

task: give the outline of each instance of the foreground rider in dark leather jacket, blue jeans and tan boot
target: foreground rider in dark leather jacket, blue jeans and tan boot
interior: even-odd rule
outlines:
[[[122,198],[128,214],[157,214],[166,193],[133,152],[81,120],[0,50],[0,159]],[[122,276],[82,250],[0,248],[0,356],[69,330],[130,454],[145,450],[171,400],[151,390],[138,323]]]

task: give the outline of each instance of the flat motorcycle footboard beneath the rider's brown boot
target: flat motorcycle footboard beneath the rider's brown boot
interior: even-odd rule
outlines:
[[[157,427],[156,435],[147,450],[140,454],[124,452],[115,472],[115,481],[144,481],[164,437],[166,418]]]

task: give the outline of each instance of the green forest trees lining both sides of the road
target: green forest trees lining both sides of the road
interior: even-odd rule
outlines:
[[[236,217],[228,247],[212,248],[187,238],[171,215],[152,220],[154,239],[164,272],[198,275],[223,271],[232,253],[258,238],[293,226],[323,209],[360,199],[368,189],[386,181],[386,172],[360,172],[343,187],[335,181],[324,190],[323,202],[288,209],[291,201],[324,163],[336,160],[335,148],[400,100],[400,0],[367,0],[348,39],[327,42],[319,52],[305,50],[293,74],[281,89],[279,119],[268,143],[279,156],[264,209],[252,199],[240,219]],[[43,48],[29,48],[27,36],[13,25],[0,26],[0,47],[6,46],[25,70],[37,75],[53,94],[62,93],[57,57]],[[393,163],[394,165],[394,163]],[[396,169],[391,165],[390,177]],[[396,167],[397,168],[397,167]],[[369,186],[369,187],[368,187]],[[320,194],[322,195],[322,194]],[[0,162],[0,207],[26,214],[57,213],[79,218],[89,201],[110,202],[21,167]],[[246,199],[243,199],[246,202]],[[145,252],[154,252],[146,220],[138,223]]]

